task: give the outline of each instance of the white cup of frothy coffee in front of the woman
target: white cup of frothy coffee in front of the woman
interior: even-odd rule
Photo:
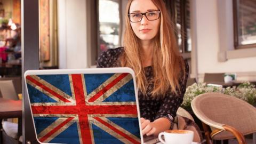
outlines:
[[[164,140],[162,139],[164,135]],[[167,130],[158,134],[158,139],[167,144],[191,144],[194,132],[188,130]]]

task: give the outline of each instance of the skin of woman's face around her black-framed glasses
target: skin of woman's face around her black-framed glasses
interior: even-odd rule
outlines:
[[[151,0],[133,0],[130,6],[130,13],[146,13],[149,11],[158,11],[157,7]],[[130,22],[135,35],[142,42],[153,39],[159,29],[160,19],[149,21],[146,15],[142,15],[142,20],[139,22]]]

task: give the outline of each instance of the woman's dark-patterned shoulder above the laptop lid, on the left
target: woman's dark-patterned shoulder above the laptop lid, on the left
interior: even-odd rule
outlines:
[[[123,47],[117,47],[116,49],[108,49],[102,52],[98,58],[97,67],[112,67],[123,50]]]

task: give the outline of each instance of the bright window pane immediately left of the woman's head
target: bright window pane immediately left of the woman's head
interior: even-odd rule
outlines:
[[[99,50],[115,49],[120,46],[120,0],[99,0]]]

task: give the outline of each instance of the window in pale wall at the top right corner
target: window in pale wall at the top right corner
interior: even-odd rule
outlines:
[[[256,47],[255,7],[255,0],[233,0],[234,45],[236,49]]]

